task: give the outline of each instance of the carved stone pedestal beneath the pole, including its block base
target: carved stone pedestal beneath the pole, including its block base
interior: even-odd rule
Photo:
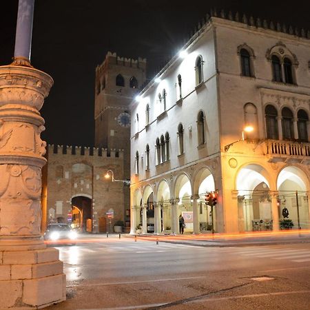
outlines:
[[[41,236],[45,130],[39,110],[52,78],[24,65],[0,67],[0,307],[38,309],[65,300],[59,251]]]

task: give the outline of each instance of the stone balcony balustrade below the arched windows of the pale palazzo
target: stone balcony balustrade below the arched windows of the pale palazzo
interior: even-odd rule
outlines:
[[[266,140],[265,143],[267,154],[280,155],[280,157],[300,156],[310,158],[310,143],[278,140]]]

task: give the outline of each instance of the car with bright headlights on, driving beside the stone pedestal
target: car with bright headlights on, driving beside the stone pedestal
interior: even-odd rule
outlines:
[[[50,241],[48,243],[70,243],[71,245],[75,245],[77,234],[68,224],[52,223],[46,227],[43,238],[44,240]]]

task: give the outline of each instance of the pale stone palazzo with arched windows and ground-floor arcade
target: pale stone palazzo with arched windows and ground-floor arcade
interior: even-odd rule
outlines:
[[[309,39],[253,18],[207,17],[132,102],[132,234],[152,223],[177,234],[180,215],[195,234],[211,223],[227,233],[276,231],[287,219],[309,227]]]

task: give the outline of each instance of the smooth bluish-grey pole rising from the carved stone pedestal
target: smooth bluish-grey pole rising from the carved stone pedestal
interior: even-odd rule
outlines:
[[[19,0],[14,59],[30,61],[34,0]]]

